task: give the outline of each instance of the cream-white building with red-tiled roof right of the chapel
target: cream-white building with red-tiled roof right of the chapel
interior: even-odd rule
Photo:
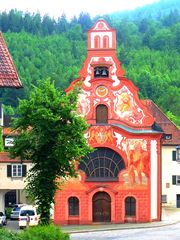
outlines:
[[[180,130],[150,100],[144,103],[164,132],[161,147],[162,206],[180,208]]]

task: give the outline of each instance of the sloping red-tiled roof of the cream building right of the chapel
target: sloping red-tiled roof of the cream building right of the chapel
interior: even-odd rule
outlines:
[[[153,115],[156,124],[164,132],[163,145],[180,145],[180,129],[161,111],[152,100],[142,101]]]

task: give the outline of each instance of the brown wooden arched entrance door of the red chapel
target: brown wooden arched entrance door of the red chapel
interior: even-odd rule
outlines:
[[[97,192],[93,196],[93,222],[111,221],[111,197],[106,192]]]

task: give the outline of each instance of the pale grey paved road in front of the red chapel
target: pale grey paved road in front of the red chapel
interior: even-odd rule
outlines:
[[[71,240],[180,240],[180,223],[155,228],[71,234]]]

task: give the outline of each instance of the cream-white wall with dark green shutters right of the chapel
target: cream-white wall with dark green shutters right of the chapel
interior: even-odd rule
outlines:
[[[173,185],[172,176],[180,175],[180,162],[173,161],[172,151],[176,151],[176,146],[162,146],[162,195],[167,195],[167,203],[163,205],[176,207],[180,184]]]

